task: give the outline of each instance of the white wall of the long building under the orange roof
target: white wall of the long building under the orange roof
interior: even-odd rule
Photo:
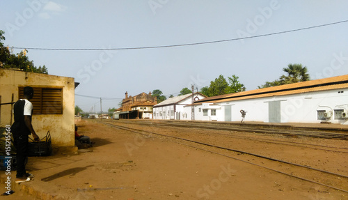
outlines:
[[[279,105],[279,107],[272,111],[270,107],[274,107],[274,105]],[[191,113],[191,107],[185,107],[184,109]],[[203,115],[203,109],[207,109],[207,116]],[[212,109],[216,110],[215,116],[211,114]],[[230,109],[230,111],[227,109]],[[334,116],[335,110],[348,111],[348,90],[335,89],[269,98],[235,100],[216,103],[216,105],[203,103],[202,105],[196,105],[195,120],[241,121],[241,109],[246,111],[245,121],[272,123],[320,123],[327,121],[348,125],[348,118],[338,119]],[[331,111],[333,116],[318,119],[318,110]]]

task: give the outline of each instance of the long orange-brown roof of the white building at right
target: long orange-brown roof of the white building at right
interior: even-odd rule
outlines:
[[[342,86],[346,87],[348,83],[348,75],[342,75],[338,77],[329,77],[325,79],[316,79],[307,82],[299,82],[295,84],[287,84],[282,86],[274,86],[264,89],[255,89],[252,91],[244,91],[239,93],[230,93],[226,95],[217,95],[214,97],[204,98],[200,102],[226,102],[231,100],[241,100],[250,98],[260,98],[272,95],[290,95],[296,93],[304,93],[308,91],[322,91],[328,89],[341,89]],[[327,87],[326,87],[327,86]]]

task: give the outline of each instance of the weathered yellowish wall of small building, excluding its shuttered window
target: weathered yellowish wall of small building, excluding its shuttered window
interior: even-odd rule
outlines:
[[[32,124],[40,138],[51,133],[52,146],[74,146],[74,78],[0,69],[2,103],[11,102],[12,94],[17,101],[19,86],[63,89],[63,114],[33,114]],[[11,112],[11,105],[1,105],[1,127],[13,123]]]

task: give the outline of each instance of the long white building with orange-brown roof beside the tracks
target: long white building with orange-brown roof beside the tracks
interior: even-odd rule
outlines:
[[[204,98],[195,120],[348,125],[348,75]],[[189,112],[191,105],[184,111]]]

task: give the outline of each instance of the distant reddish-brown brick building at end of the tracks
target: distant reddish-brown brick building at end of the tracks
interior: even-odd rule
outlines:
[[[157,97],[152,93],[140,93],[135,96],[128,96],[122,100],[122,107],[115,110],[114,119],[118,118],[152,118],[152,107],[157,104]]]

